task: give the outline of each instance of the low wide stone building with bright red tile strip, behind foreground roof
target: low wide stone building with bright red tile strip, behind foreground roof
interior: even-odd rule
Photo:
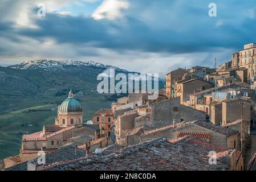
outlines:
[[[137,129],[130,131],[126,136],[126,146],[165,137],[177,139],[193,135],[204,139],[216,146],[239,150],[239,131],[228,127],[214,126],[206,121],[181,122],[153,130]]]

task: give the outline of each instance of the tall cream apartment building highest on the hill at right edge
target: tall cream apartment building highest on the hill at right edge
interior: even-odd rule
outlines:
[[[245,44],[243,49],[232,55],[231,67],[246,68],[248,83],[251,84],[256,76],[256,44]]]

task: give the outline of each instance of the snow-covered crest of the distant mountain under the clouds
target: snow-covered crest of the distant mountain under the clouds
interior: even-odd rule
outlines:
[[[45,71],[63,71],[67,69],[67,67],[94,67],[94,68],[115,68],[122,72],[127,72],[124,69],[120,69],[117,67],[112,67],[111,65],[105,65],[101,63],[97,63],[95,61],[76,61],[76,60],[32,60],[32,61],[24,61],[20,64],[10,65],[9,68],[14,69],[44,69]]]

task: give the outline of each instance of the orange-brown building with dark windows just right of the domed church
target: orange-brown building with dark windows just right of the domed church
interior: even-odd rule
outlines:
[[[100,109],[98,110],[92,121],[94,125],[98,125],[100,128],[100,136],[101,137],[110,137],[111,127],[114,123],[113,112],[112,109]]]

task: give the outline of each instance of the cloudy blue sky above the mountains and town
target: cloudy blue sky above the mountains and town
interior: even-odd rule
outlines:
[[[255,13],[253,0],[1,0],[0,66],[91,60],[161,77],[213,67],[256,42]]]

